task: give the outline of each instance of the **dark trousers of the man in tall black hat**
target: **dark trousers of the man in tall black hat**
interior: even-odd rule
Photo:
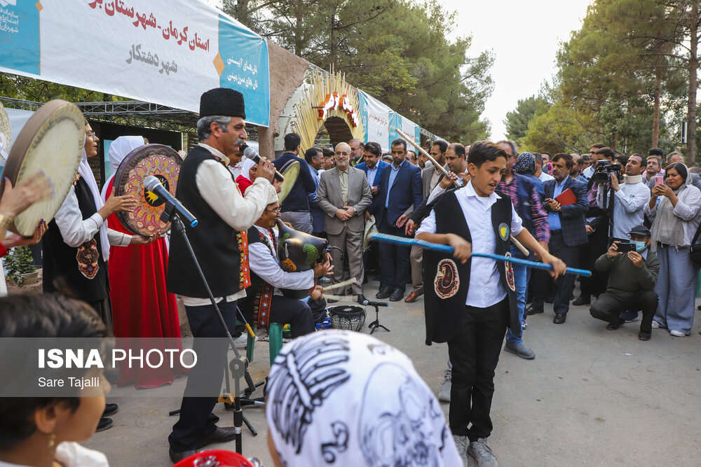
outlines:
[[[236,330],[236,301],[222,301],[217,305],[229,332]],[[185,307],[185,312],[194,337],[192,347],[197,354],[197,364],[189,370],[180,404],[180,418],[168,436],[170,447],[175,452],[196,449],[198,438],[210,435],[217,429],[219,417],[212,413],[212,409],[221,395],[226,352],[229,349],[226,333],[212,305]],[[190,396],[203,393],[211,396]]]

